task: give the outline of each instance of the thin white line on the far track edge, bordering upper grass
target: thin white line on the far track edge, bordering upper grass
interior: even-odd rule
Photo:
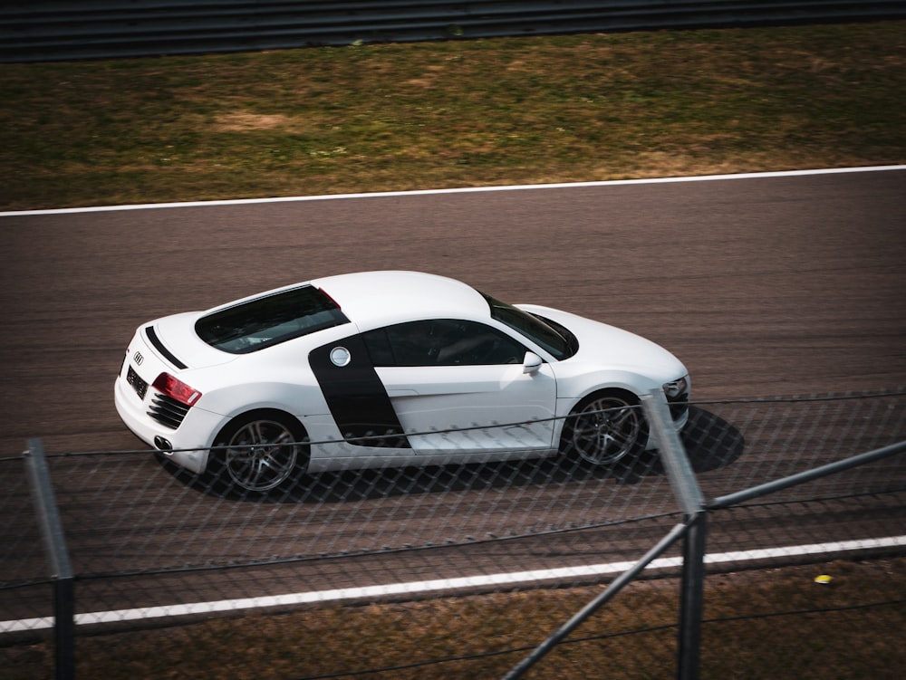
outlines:
[[[781,172],[750,172],[737,175],[701,175],[692,177],[659,177],[651,179],[612,179],[601,182],[567,182],[563,184],[530,184],[510,187],[464,187],[458,189],[420,189],[416,191],[381,191],[372,194],[327,194],[323,196],[275,196],[272,198],[236,198],[224,201],[191,201],[186,203],[148,203],[132,206],[67,207],[50,210],[14,210],[0,212],[0,217],[21,215],[64,215],[68,213],[100,213],[119,210],[149,210],[169,207],[247,206],[259,203],[298,203],[304,201],[334,201],[343,198],[376,198],[386,196],[434,196],[439,194],[473,194],[489,191],[526,191],[530,189],[569,189],[579,187],[615,187],[630,184],[670,184],[674,182],[708,182],[718,179],[762,179],[765,177],[803,177],[807,175],[839,175],[856,172],[906,170],[906,166],[869,166],[865,168],[825,168],[815,170],[785,170]]]

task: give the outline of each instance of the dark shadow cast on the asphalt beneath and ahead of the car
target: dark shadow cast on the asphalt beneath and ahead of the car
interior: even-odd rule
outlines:
[[[689,424],[680,439],[696,473],[716,470],[743,454],[745,440],[736,427],[698,407],[689,409]],[[610,466],[589,465],[573,456],[424,467],[387,467],[303,475],[288,488],[267,493],[243,493],[223,477],[188,473],[159,456],[161,463],[196,491],[231,501],[254,503],[350,503],[419,493],[469,493],[491,489],[586,484],[612,479],[616,484],[639,484],[664,474],[657,452],[646,452]]]

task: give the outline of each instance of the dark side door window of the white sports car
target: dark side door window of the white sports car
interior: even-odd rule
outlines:
[[[363,337],[375,366],[487,366],[525,358],[520,342],[477,321],[410,321]]]

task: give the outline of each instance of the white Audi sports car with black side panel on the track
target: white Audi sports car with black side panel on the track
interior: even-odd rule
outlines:
[[[114,395],[141,440],[266,492],[300,474],[652,446],[639,397],[677,428],[689,376],[626,330],[513,306],[427,273],[315,279],[136,331]]]

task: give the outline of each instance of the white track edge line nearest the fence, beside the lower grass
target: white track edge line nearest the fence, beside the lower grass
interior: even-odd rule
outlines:
[[[906,536],[892,536],[881,539],[863,539],[861,541],[837,541],[813,543],[786,548],[767,548],[757,551],[721,552],[705,556],[707,564],[719,564],[731,561],[772,560],[802,555],[820,555],[843,551],[863,551],[879,548],[901,548],[906,546]],[[590,564],[579,567],[564,567],[552,570],[514,571],[500,574],[482,574],[466,576],[459,579],[435,579],[411,581],[409,583],[390,583],[381,586],[364,588],[341,588],[333,590],[316,590],[312,592],[287,593],[264,598],[220,599],[211,602],[191,602],[184,605],[148,607],[136,609],[116,609],[114,611],[93,611],[77,614],[75,622],[84,626],[99,623],[122,623],[149,618],[175,618],[191,615],[216,614],[225,611],[242,609],[261,609],[269,607],[286,607],[312,603],[335,602],[344,599],[374,599],[390,595],[419,595],[432,591],[466,590],[504,586],[513,583],[530,583],[551,579],[603,576],[622,573],[629,570],[635,562],[611,562],[608,564]],[[682,558],[668,557],[653,560],[648,570],[673,569],[682,564]],[[28,630],[40,630],[53,627],[53,617],[22,618],[11,621],[0,621],[0,635]]]

